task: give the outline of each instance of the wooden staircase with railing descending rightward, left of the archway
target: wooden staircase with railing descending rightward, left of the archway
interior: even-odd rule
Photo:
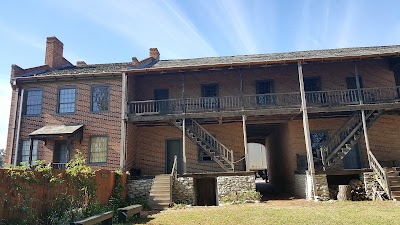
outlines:
[[[183,120],[177,119],[172,123],[183,131]],[[185,134],[197,143],[222,169],[227,172],[235,170],[233,151],[225,147],[206,129],[193,119],[186,119]]]

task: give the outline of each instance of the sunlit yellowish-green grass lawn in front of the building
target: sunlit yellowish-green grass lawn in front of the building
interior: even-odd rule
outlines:
[[[400,224],[398,202],[268,201],[169,209],[129,224]]]

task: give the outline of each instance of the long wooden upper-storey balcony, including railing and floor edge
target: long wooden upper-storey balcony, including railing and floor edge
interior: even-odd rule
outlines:
[[[363,104],[360,105],[360,97]],[[309,112],[400,108],[400,86],[306,92]],[[241,115],[296,114],[300,92],[132,101],[130,121]]]

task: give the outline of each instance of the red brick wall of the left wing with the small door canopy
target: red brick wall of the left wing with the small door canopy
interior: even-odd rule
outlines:
[[[90,112],[91,87],[97,84],[110,85],[110,110],[108,112]],[[73,114],[57,113],[58,90],[64,86],[75,86],[77,90],[76,111]],[[121,135],[120,78],[32,83],[24,85],[23,88],[41,88],[43,90],[43,99],[42,113],[39,116],[22,116],[20,140],[28,139],[29,133],[46,125],[84,124],[83,140],[81,143],[79,141],[74,141],[73,148],[80,149],[87,157],[89,138],[95,135],[106,135],[108,136],[107,164],[95,165],[93,167],[107,169],[119,168]],[[14,106],[12,105],[12,107]],[[13,110],[12,107],[11,111]],[[9,128],[8,143],[10,143],[10,138],[11,129]],[[7,154],[9,154],[10,149],[11,147],[8,145]],[[54,140],[48,140],[46,144],[41,142],[39,147],[39,159],[44,159],[47,163],[51,162],[53,150]]]

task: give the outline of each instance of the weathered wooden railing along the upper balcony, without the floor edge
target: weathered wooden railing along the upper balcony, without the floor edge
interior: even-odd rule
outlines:
[[[363,88],[360,92],[357,89],[306,92],[307,105],[310,107],[357,105],[360,102],[360,97],[362,97],[365,104],[398,101],[400,100],[400,86]],[[300,92],[293,92],[132,101],[129,104],[129,108],[130,113],[134,115],[158,115],[268,108],[299,108],[300,104]]]

